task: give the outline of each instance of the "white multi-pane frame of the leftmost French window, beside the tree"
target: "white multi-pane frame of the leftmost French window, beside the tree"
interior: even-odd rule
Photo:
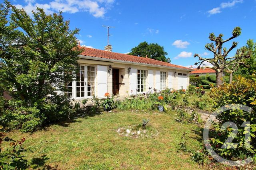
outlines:
[[[81,73],[81,66],[84,66],[84,83],[85,83],[85,85],[84,85],[84,96],[79,96],[79,97],[77,97],[77,86],[76,86],[76,83],[78,82],[78,81],[73,81],[72,82],[72,98],[75,98],[75,99],[84,99],[84,98],[92,98],[93,97],[93,95],[92,95],[92,90],[90,91],[91,92],[91,96],[88,96],[88,66],[90,66],[90,67],[94,67],[94,76],[92,76],[92,77],[94,77],[94,95],[95,95],[95,92],[96,92],[96,90],[95,90],[95,88],[96,88],[96,66],[94,66],[94,65],[83,65],[83,64],[81,64],[81,65],[79,65],[79,67],[80,67],[80,69],[79,69],[79,72]],[[92,74],[92,71],[90,71],[91,72],[91,74]],[[77,76],[77,75],[76,75]],[[79,81],[80,82],[80,81]],[[91,81],[92,82],[92,81]],[[80,94],[82,93],[81,91],[81,88],[82,88],[82,86],[81,86],[81,83],[80,83]],[[65,92],[65,94],[66,94],[67,92]]]

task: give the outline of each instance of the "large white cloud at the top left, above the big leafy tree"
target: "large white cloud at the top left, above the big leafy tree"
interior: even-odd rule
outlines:
[[[53,12],[89,12],[96,18],[103,18],[106,10],[112,7],[114,0],[52,0],[48,4],[38,4],[35,0],[24,0],[26,5],[16,4],[17,8],[24,10],[31,16],[36,7],[43,8],[47,14]]]

